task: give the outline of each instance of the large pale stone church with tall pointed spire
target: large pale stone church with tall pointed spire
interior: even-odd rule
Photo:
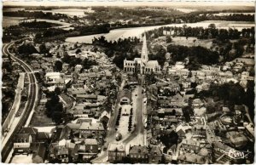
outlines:
[[[134,60],[124,60],[124,71],[128,74],[140,73],[150,74],[152,72],[159,72],[160,65],[157,60],[148,60],[148,48],[146,35],[143,37],[143,49],[141,58]]]

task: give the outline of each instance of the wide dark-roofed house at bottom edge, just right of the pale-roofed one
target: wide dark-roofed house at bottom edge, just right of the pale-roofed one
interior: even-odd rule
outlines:
[[[129,156],[133,163],[147,163],[148,149],[146,146],[134,145],[130,147]]]

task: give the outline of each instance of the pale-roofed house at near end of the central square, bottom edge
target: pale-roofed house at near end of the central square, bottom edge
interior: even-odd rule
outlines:
[[[108,145],[108,161],[120,162],[125,157],[125,144],[110,143]]]

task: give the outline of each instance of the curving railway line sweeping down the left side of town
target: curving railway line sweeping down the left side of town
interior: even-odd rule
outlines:
[[[9,152],[13,148],[13,143],[15,140],[15,134],[17,134],[20,129],[27,123],[30,122],[32,117],[32,112],[34,111],[36,104],[38,102],[38,83],[37,79],[32,71],[31,66],[27,65],[23,60],[15,57],[14,54],[9,52],[9,48],[15,43],[9,43],[3,45],[3,54],[10,55],[12,60],[15,60],[20,63],[21,67],[26,71],[29,77],[29,88],[28,88],[28,100],[26,102],[25,108],[20,115],[20,117],[15,117],[13,123],[11,123],[11,127],[9,132],[7,132],[2,142],[2,162],[5,162],[7,157],[9,156]]]

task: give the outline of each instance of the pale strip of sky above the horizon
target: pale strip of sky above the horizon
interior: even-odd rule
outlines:
[[[3,6],[254,6],[254,4],[254,0],[3,0]]]

